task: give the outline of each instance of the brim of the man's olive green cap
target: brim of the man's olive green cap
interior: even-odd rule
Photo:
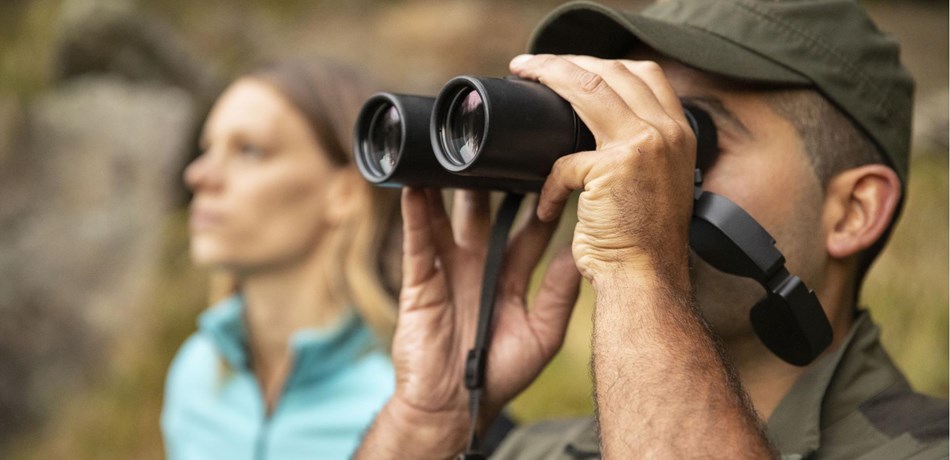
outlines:
[[[725,77],[807,85],[804,75],[766,56],[696,27],[621,14],[596,3],[564,5],[549,14],[529,42],[531,53],[580,54],[607,59],[646,45],[690,67]]]

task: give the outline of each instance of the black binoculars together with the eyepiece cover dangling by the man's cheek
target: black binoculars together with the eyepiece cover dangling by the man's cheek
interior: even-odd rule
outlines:
[[[831,343],[821,303],[789,273],[775,239],[725,196],[702,189],[716,159],[709,114],[683,106],[696,135],[690,246],[720,271],[752,278],[766,292],[750,321],[780,358],[804,366]],[[456,77],[435,98],[379,93],[355,129],[356,164],[380,186],[540,190],[558,158],[594,149],[571,105],[546,86],[517,78]]]

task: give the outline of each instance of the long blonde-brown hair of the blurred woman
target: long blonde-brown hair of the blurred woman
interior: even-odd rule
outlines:
[[[331,299],[353,307],[384,344],[392,339],[399,286],[399,194],[364,181],[353,163],[352,127],[375,85],[354,69],[327,60],[279,62],[246,75],[270,84],[306,117],[323,151],[344,180],[359,189],[364,209],[327,236],[321,260]],[[342,267],[341,267],[342,261]],[[211,301],[238,290],[237,279],[214,273]]]

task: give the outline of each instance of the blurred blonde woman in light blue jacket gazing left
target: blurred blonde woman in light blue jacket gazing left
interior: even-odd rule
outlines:
[[[370,93],[351,69],[286,63],[212,108],[184,176],[191,256],[227,295],[169,371],[169,458],[346,458],[392,392],[398,196],[350,146]]]

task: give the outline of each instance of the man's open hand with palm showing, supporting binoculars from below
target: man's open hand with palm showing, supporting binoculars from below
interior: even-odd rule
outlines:
[[[450,221],[439,191],[403,191],[403,286],[392,350],[396,392],[358,458],[446,458],[464,448],[469,418],[463,373],[474,343],[489,208],[487,193],[457,191]],[[570,252],[553,259],[534,305],[525,303],[531,273],[555,225],[532,214],[510,242],[498,287],[483,422],[527,387],[564,339],[580,279]]]

